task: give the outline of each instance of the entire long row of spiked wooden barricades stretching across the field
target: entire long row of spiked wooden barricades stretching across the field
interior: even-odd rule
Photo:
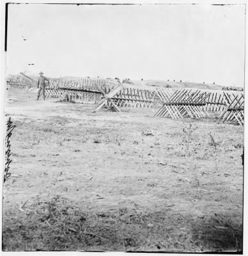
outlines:
[[[36,81],[23,73],[9,77],[7,83],[26,92],[36,89]],[[35,86],[33,84],[35,83]],[[112,83],[104,79],[51,79],[46,87],[47,97],[65,97],[81,103],[97,104],[95,111],[104,106],[159,108],[154,116],[173,119],[207,117],[208,112],[222,111],[218,122],[236,122],[244,125],[244,93],[206,92],[193,88],[153,88],[144,90]]]

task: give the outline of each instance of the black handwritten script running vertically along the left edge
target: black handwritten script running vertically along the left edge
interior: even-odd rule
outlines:
[[[12,163],[12,160],[10,159],[10,156],[11,156],[10,137],[12,136],[12,131],[15,128],[15,125],[13,125],[11,118],[8,119],[6,128],[7,128],[7,132],[6,132],[6,137],[5,137],[5,169],[4,169],[3,183],[6,182],[6,180],[11,175],[11,173],[9,172],[10,163]]]

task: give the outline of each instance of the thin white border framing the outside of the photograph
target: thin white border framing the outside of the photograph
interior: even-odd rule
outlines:
[[[213,1],[213,0],[141,0],[141,1],[137,1],[137,0],[84,0],[84,1],[79,1],[79,0],[73,0],[73,1],[65,1],[65,0],[40,0],[40,1],[35,1],[35,0],[10,0],[10,1],[6,1],[6,0],[0,0],[1,1],[1,5],[0,5],[0,24],[1,24],[1,42],[0,42],[0,47],[1,47],[1,51],[0,51],[0,60],[1,60],[1,76],[0,76],[0,166],[1,166],[1,175],[3,175],[3,170],[4,170],[4,99],[5,99],[5,63],[6,63],[6,54],[4,52],[4,38],[5,38],[5,4],[6,3],[109,3],[109,4],[121,4],[121,3],[134,3],[134,4],[154,4],[154,3],[159,3],[159,4],[247,4],[247,1],[245,0],[225,0],[225,1]],[[247,10],[248,8],[246,8],[246,12],[248,12]],[[247,19],[246,19],[246,52],[245,52],[245,63],[246,63],[246,69],[245,69],[245,88],[247,88],[247,35],[248,35],[248,29],[247,29]],[[245,90],[245,96],[247,94],[248,89]],[[245,239],[247,241],[247,234],[248,234],[248,221],[247,221],[247,216],[248,216],[248,208],[247,208],[247,159],[248,159],[248,141],[247,141],[247,122],[246,120],[248,118],[248,105],[247,105],[247,100],[245,98],[245,141],[244,141],[244,145],[245,145],[245,171],[244,171],[244,247],[243,247],[243,255],[248,255],[248,244],[245,243]],[[1,179],[1,185],[3,185],[3,179]],[[1,186],[1,198],[3,197],[3,190],[2,190],[2,186]],[[0,204],[0,228],[2,230],[2,202]],[[0,230],[0,241],[2,241],[2,232]],[[0,242],[1,243],[1,242]],[[1,248],[0,248],[1,250]],[[83,255],[103,255],[102,253],[97,253],[97,252],[2,252],[0,254],[3,255],[82,255],[80,253],[83,253]],[[124,253],[124,252],[106,252],[104,253],[104,255],[115,255],[118,254],[120,255],[120,253]],[[132,253],[132,255],[157,255],[157,253]],[[166,253],[165,255],[179,255],[177,253]],[[188,253],[183,253],[182,255],[191,255]],[[214,254],[212,254],[214,255]]]

